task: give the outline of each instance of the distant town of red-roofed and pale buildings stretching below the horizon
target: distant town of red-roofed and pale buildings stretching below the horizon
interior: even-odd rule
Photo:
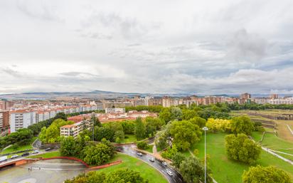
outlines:
[[[127,120],[136,117],[154,116],[147,111],[125,113],[126,107],[137,107],[139,105],[156,106],[164,108],[171,106],[186,105],[211,105],[216,103],[245,103],[257,104],[293,104],[292,96],[279,97],[277,94],[268,95],[262,98],[253,98],[250,93],[243,93],[239,97],[228,96],[144,96],[132,95],[117,98],[107,97],[102,99],[87,99],[78,97],[54,98],[53,100],[0,100],[0,129],[1,136],[10,132],[16,132],[29,125],[48,120],[55,117],[58,113],[88,113],[90,111],[106,110],[106,113],[96,113],[101,122],[111,120]],[[111,109],[116,110],[111,110]],[[80,122],[83,118],[89,118],[90,115],[80,115],[70,118],[74,122]]]

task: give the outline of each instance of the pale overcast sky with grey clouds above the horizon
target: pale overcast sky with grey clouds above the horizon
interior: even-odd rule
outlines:
[[[0,93],[293,93],[292,0],[1,0]]]

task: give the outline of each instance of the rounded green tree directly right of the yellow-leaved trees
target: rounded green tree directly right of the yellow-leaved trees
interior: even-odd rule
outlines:
[[[231,132],[234,134],[244,133],[250,135],[255,129],[253,122],[251,122],[250,117],[239,116],[233,117],[231,122]]]

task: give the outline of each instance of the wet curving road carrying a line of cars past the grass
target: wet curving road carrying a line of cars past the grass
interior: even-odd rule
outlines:
[[[168,181],[170,183],[184,183],[181,175],[178,172],[176,172],[174,169],[171,169],[171,167],[169,167],[169,165],[167,167],[165,167],[163,164],[161,164],[161,162],[159,160],[155,160],[154,162],[149,161],[149,159],[152,157],[151,155],[139,156],[139,155],[137,155],[136,151],[132,150],[131,145],[123,146],[122,152],[124,152],[125,154],[127,154],[129,156],[136,157],[137,159],[142,160],[142,161],[146,162],[147,164],[151,165],[152,167],[157,169],[159,172],[164,174],[164,176],[166,177],[166,179],[168,179]],[[169,174],[167,174],[167,172],[166,172],[167,170],[172,172],[173,176],[170,176]]]

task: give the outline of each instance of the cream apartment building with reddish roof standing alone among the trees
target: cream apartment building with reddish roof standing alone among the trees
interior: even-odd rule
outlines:
[[[60,136],[61,137],[78,137],[78,134],[82,132],[83,124],[82,121],[76,122],[73,125],[64,125],[60,127]]]

